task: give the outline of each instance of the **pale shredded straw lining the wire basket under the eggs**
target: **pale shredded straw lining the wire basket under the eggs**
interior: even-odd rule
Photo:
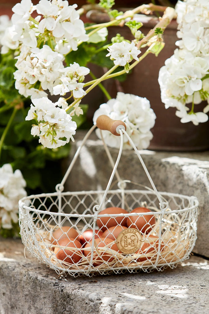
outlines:
[[[112,250],[110,247],[114,243],[111,242],[105,247],[96,247],[94,243],[93,250],[93,263],[91,263],[91,254],[87,257],[84,256],[83,251],[86,248],[77,249],[75,247],[63,247],[51,244],[51,234],[49,231],[55,230],[54,226],[47,226],[48,230],[43,230],[40,228],[35,228],[34,233],[35,239],[31,235],[30,237],[30,251],[33,250],[33,255],[37,258],[42,259],[46,264],[48,264],[53,269],[59,269],[63,272],[70,271],[99,271],[99,270],[113,270],[113,269],[131,269],[131,268],[156,268],[160,266],[169,266],[170,263],[175,264],[181,262],[184,257],[188,256],[190,250],[191,241],[190,236],[185,233],[185,231],[180,228],[179,224],[174,223],[169,225],[169,229],[166,229],[164,224],[162,230],[164,230],[161,236],[161,245],[158,245],[158,241],[155,243],[150,240],[150,235],[158,235],[158,230],[151,232],[149,235],[143,237],[144,243],[148,243],[146,250],[139,253],[123,254]],[[36,245],[32,248],[34,240]],[[59,247],[61,249],[67,249],[70,251],[75,251],[77,255],[81,257],[78,263],[67,263],[65,261],[57,259],[54,248]],[[88,248],[89,251],[89,248]],[[102,258],[105,255],[105,260]],[[108,260],[109,259],[109,260]],[[108,260],[108,261],[106,261]],[[95,263],[96,262],[96,263]]]

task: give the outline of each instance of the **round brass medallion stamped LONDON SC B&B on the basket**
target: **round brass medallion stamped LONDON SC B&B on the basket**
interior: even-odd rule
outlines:
[[[142,245],[142,234],[139,230],[129,228],[119,233],[115,243],[122,253],[135,253]]]

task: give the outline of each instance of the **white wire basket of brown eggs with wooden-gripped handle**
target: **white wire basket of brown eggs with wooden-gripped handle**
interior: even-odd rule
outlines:
[[[56,192],[30,195],[19,201],[20,235],[25,248],[56,273],[73,277],[148,273],[176,267],[189,258],[195,245],[197,198],[157,191],[123,122],[99,117],[97,126],[121,136],[115,163],[103,142],[113,167],[106,189],[63,192],[82,146],[96,127],[93,126],[83,138],[62,182],[56,186]],[[124,136],[133,146],[153,189],[142,190],[140,183],[121,179],[117,166]],[[114,177],[117,186],[113,189]],[[143,208],[141,212],[131,213],[139,207]]]

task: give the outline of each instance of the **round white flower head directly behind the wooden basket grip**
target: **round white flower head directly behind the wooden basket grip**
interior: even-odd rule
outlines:
[[[108,100],[106,104],[100,105],[99,109],[95,111],[94,124],[101,115],[125,122],[126,132],[137,149],[146,149],[149,146],[150,140],[153,138],[150,129],[155,124],[156,116],[146,98],[118,92],[115,99]],[[101,132],[105,143],[110,147],[120,147],[120,137],[112,135],[109,131]],[[96,134],[101,138],[99,129],[96,129]],[[126,137],[124,137],[123,148],[132,149],[132,145]]]

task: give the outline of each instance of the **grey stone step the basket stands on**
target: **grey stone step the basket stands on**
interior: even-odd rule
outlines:
[[[58,276],[25,252],[20,240],[0,239],[0,314],[207,314],[208,260],[163,272]]]

